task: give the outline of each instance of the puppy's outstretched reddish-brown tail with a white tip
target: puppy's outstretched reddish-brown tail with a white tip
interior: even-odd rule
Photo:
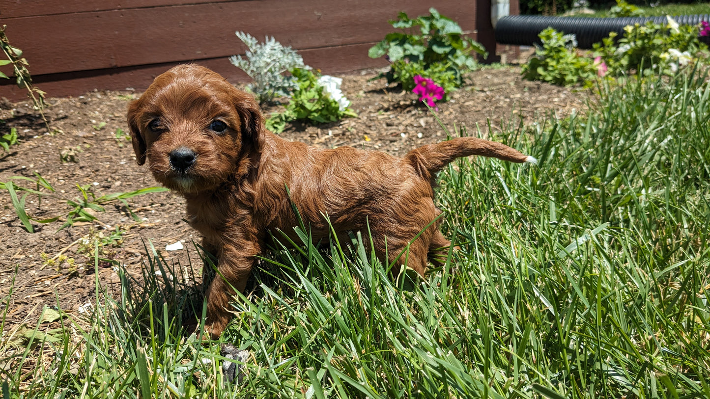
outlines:
[[[405,155],[422,177],[429,177],[440,172],[447,164],[460,157],[483,155],[510,162],[528,162],[537,164],[537,159],[500,142],[483,140],[476,137],[457,137],[452,140],[419,147]]]

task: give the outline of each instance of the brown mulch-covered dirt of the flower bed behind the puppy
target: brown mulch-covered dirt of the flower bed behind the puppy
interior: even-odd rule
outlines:
[[[414,94],[387,86],[383,79],[371,80],[374,76],[376,72],[370,71],[343,77],[342,89],[358,118],[319,126],[292,125],[281,136],[319,147],[351,145],[398,156],[446,138],[444,130]],[[580,109],[586,99],[584,92],[524,81],[517,67],[483,69],[469,74],[467,80],[469,85],[455,92],[452,101],[439,104],[437,115],[451,134],[455,134],[456,124],[465,125],[471,135],[478,134],[478,126],[485,137],[488,119],[496,129],[501,120],[510,118],[530,121],[536,114],[550,111],[566,114]],[[47,116],[58,130],[53,135],[46,133],[28,103],[0,103],[3,108],[0,119],[6,120],[0,133],[16,128],[20,138],[9,153],[0,155],[0,181],[10,181],[12,176],[34,179],[39,174],[58,195],[69,199],[80,197],[77,185],[86,187],[95,196],[158,186],[146,167],[136,165],[131,143],[121,137],[121,131],[128,131],[126,106],[136,96],[111,91],[49,99]],[[265,111],[275,110],[278,107]],[[35,188],[30,181],[14,181]],[[190,263],[188,257],[193,264],[199,259],[192,245],[193,240],[199,242],[199,237],[182,220],[180,196],[170,192],[151,193],[128,201],[138,221],[122,203],[112,203],[104,211],[90,211],[99,222],[75,223],[58,231],[65,221],[61,218],[48,224],[33,223],[35,232],[30,233],[18,219],[8,191],[0,191],[0,298],[14,287],[6,321],[35,322],[44,305],[76,313],[94,297],[97,280],[109,289],[116,288],[119,276],[111,263],[99,262],[96,267],[82,245],[82,237],[102,235],[108,240],[110,230],[116,226],[127,230],[123,242],[117,247],[107,247],[109,250],[102,256],[125,264],[129,273],[136,276],[146,259],[145,245],[149,243],[168,262],[186,266]],[[40,203],[33,195],[26,197],[26,208],[35,218],[66,215],[71,209],[66,201],[43,199]],[[181,242],[185,249],[165,250],[166,245],[176,242]],[[46,261],[53,258],[55,262]],[[13,276],[16,276],[14,283]]]

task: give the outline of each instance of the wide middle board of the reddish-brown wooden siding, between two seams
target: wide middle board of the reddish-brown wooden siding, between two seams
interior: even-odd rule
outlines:
[[[275,36],[296,49],[381,40],[387,20],[405,9],[426,13],[430,1],[251,0],[152,9],[98,11],[9,18],[11,43],[25,51],[34,74],[128,67],[226,57],[244,52],[236,30],[263,40]],[[439,11],[472,29],[469,1],[452,0]],[[67,19],[68,18],[68,19]],[[41,28],[40,28],[41,27]]]

